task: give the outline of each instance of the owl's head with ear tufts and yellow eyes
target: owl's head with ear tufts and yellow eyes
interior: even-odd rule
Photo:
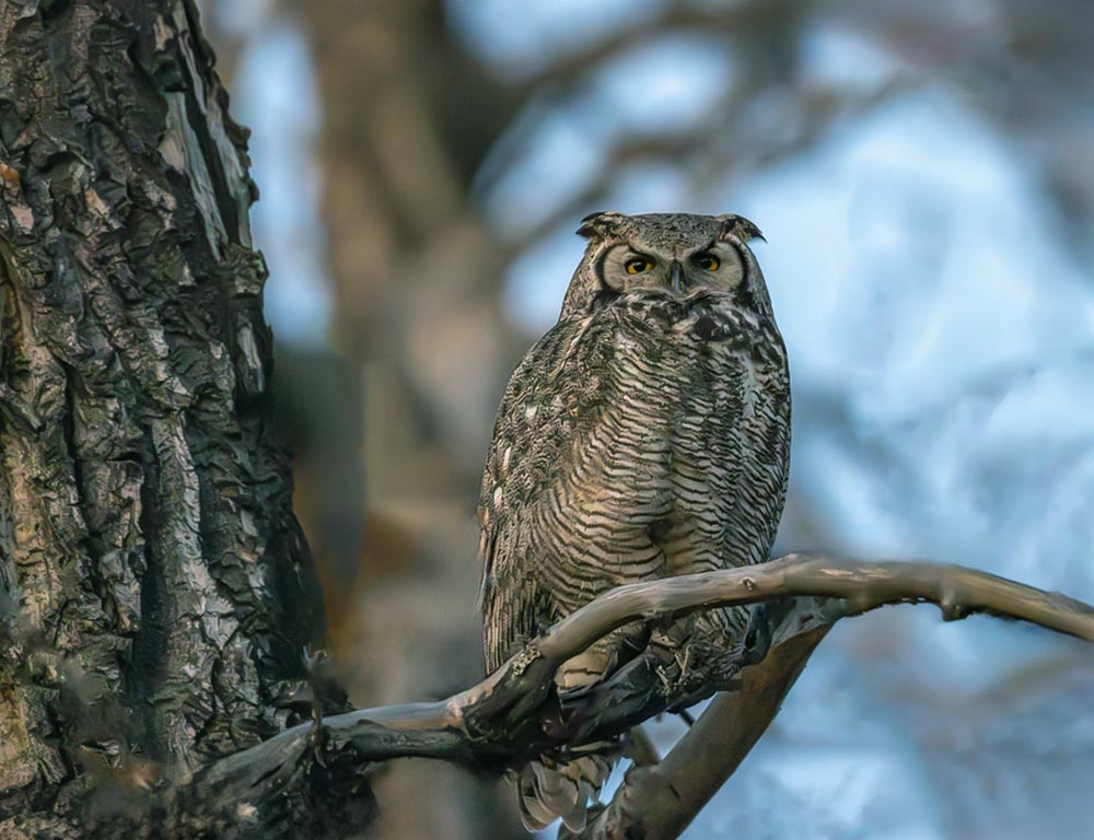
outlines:
[[[764,276],[747,245],[763,234],[744,217],[602,212],[586,215],[578,233],[589,247],[562,302],[563,318],[643,289],[729,292],[742,306],[771,315]]]

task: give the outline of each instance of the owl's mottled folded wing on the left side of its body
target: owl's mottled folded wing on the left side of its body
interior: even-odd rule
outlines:
[[[479,498],[482,638],[489,670],[560,616],[536,575],[545,495],[603,399],[590,319],[563,320],[513,373],[498,409]]]

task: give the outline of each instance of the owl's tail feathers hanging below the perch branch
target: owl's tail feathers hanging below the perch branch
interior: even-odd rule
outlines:
[[[559,817],[571,831],[585,827],[585,812],[612,773],[614,760],[605,756],[544,756],[521,768],[516,779],[521,820],[528,831],[546,828]]]

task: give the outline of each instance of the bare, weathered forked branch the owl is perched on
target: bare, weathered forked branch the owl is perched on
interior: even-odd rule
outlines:
[[[637,695],[630,705],[604,703],[604,696],[593,691],[563,714],[554,690],[559,665],[631,621],[782,597],[795,598],[795,606],[777,628],[768,656],[745,668],[737,688],[720,695],[693,728],[694,735],[661,765],[632,774],[583,837],[622,837],[639,822],[644,836],[676,837],[758,739],[810,653],[840,618],[886,604],[929,602],[946,620],[982,612],[1094,641],[1094,607],[986,572],[931,562],[788,555],[744,569],[620,586],[559,621],[466,691],[438,702],[330,716],[322,730],[307,724],[287,730],[184,780],[176,788],[181,792],[176,804],[201,803],[207,809],[236,813],[242,808],[254,820],[256,836],[289,836],[291,820],[278,830],[265,813],[276,800],[284,800],[287,786],[299,784],[302,769],[319,766],[324,778],[331,780],[359,778],[374,762],[409,756],[500,769],[574,739],[624,732],[678,704],[679,698],[664,696],[664,687],[651,678],[628,685],[630,696]],[[592,708],[581,709],[581,702]],[[711,744],[718,749],[711,750]],[[687,801],[671,792],[682,772],[697,782]],[[183,805],[172,810],[185,819],[182,812],[188,809]]]

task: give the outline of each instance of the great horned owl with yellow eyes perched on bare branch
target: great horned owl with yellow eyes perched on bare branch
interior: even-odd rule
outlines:
[[[490,670],[614,586],[767,560],[782,512],[790,381],[747,245],[759,231],[738,215],[606,212],[579,233],[584,258],[510,380],[482,477]],[[729,650],[746,621],[695,614],[671,643]],[[649,632],[625,627],[567,662],[559,690],[612,673]],[[609,769],[595,752],[533,762],[517,782],[525,825],[579,829]]]

